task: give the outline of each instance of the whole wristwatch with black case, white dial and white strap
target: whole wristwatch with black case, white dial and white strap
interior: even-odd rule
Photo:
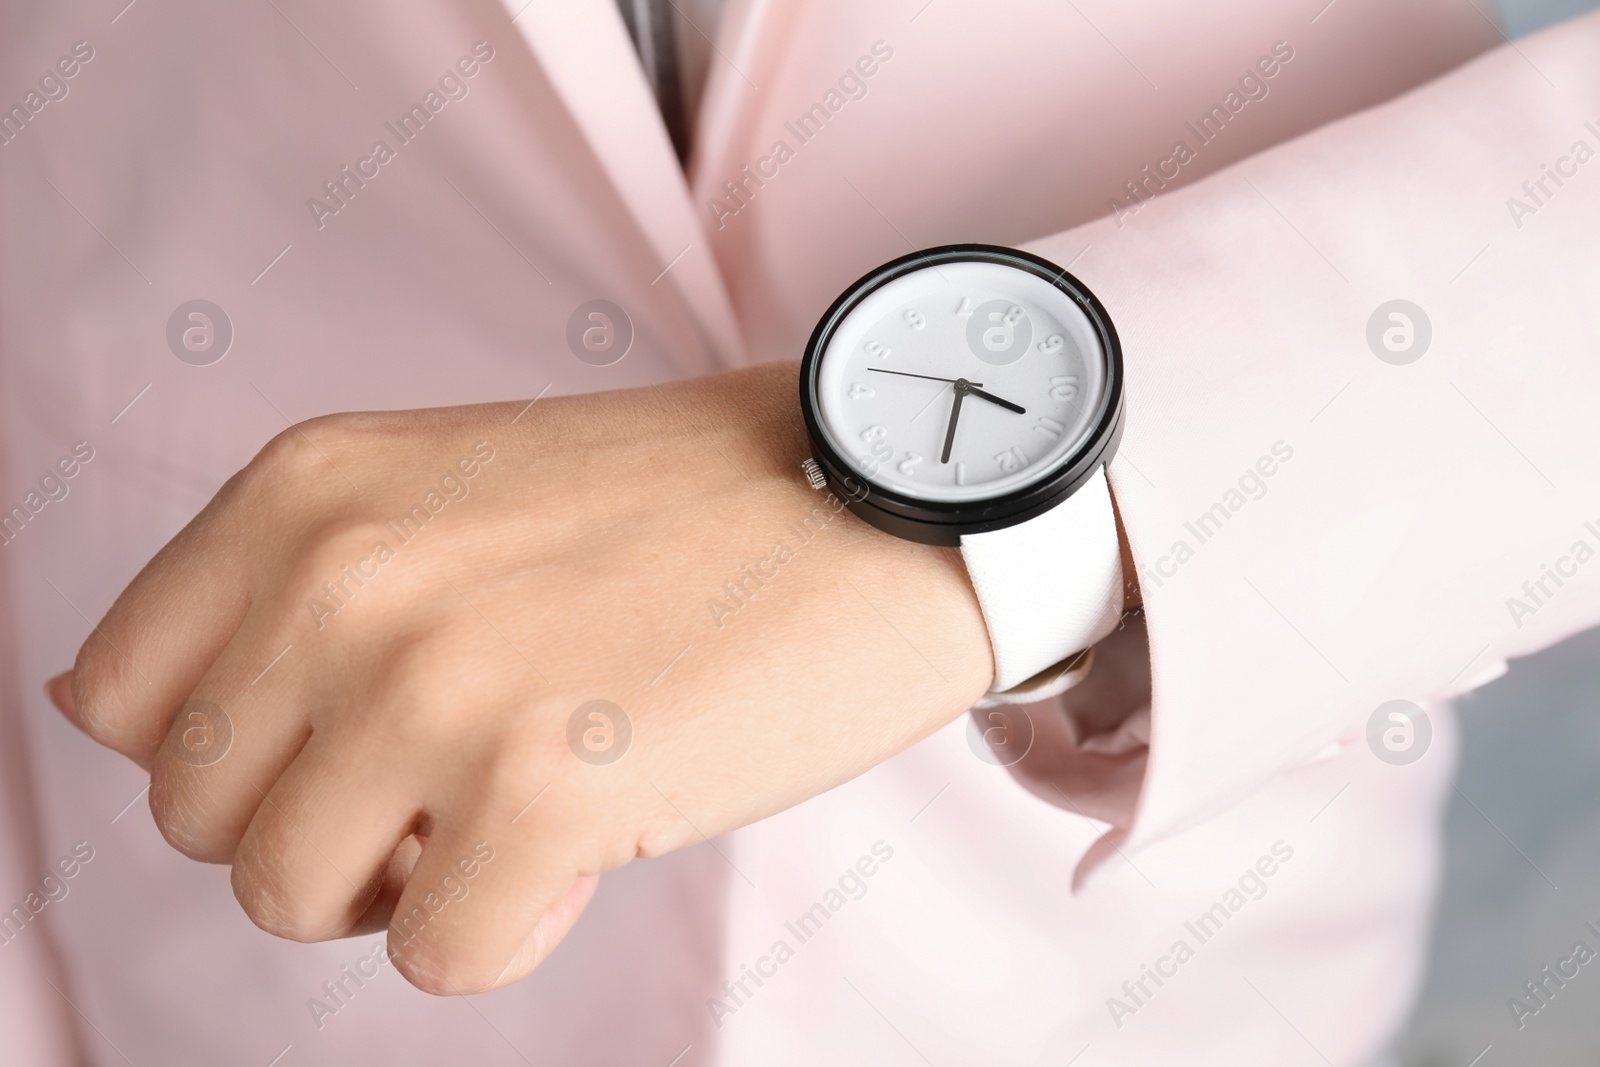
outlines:
[[[878,530],[960,545],[994,648],[989,702],[1082,677],[1123,605],[1106,483],[1122,347],[1082,282],[992,245],[888,262],[818,322],[800,408],[813,486]]]

